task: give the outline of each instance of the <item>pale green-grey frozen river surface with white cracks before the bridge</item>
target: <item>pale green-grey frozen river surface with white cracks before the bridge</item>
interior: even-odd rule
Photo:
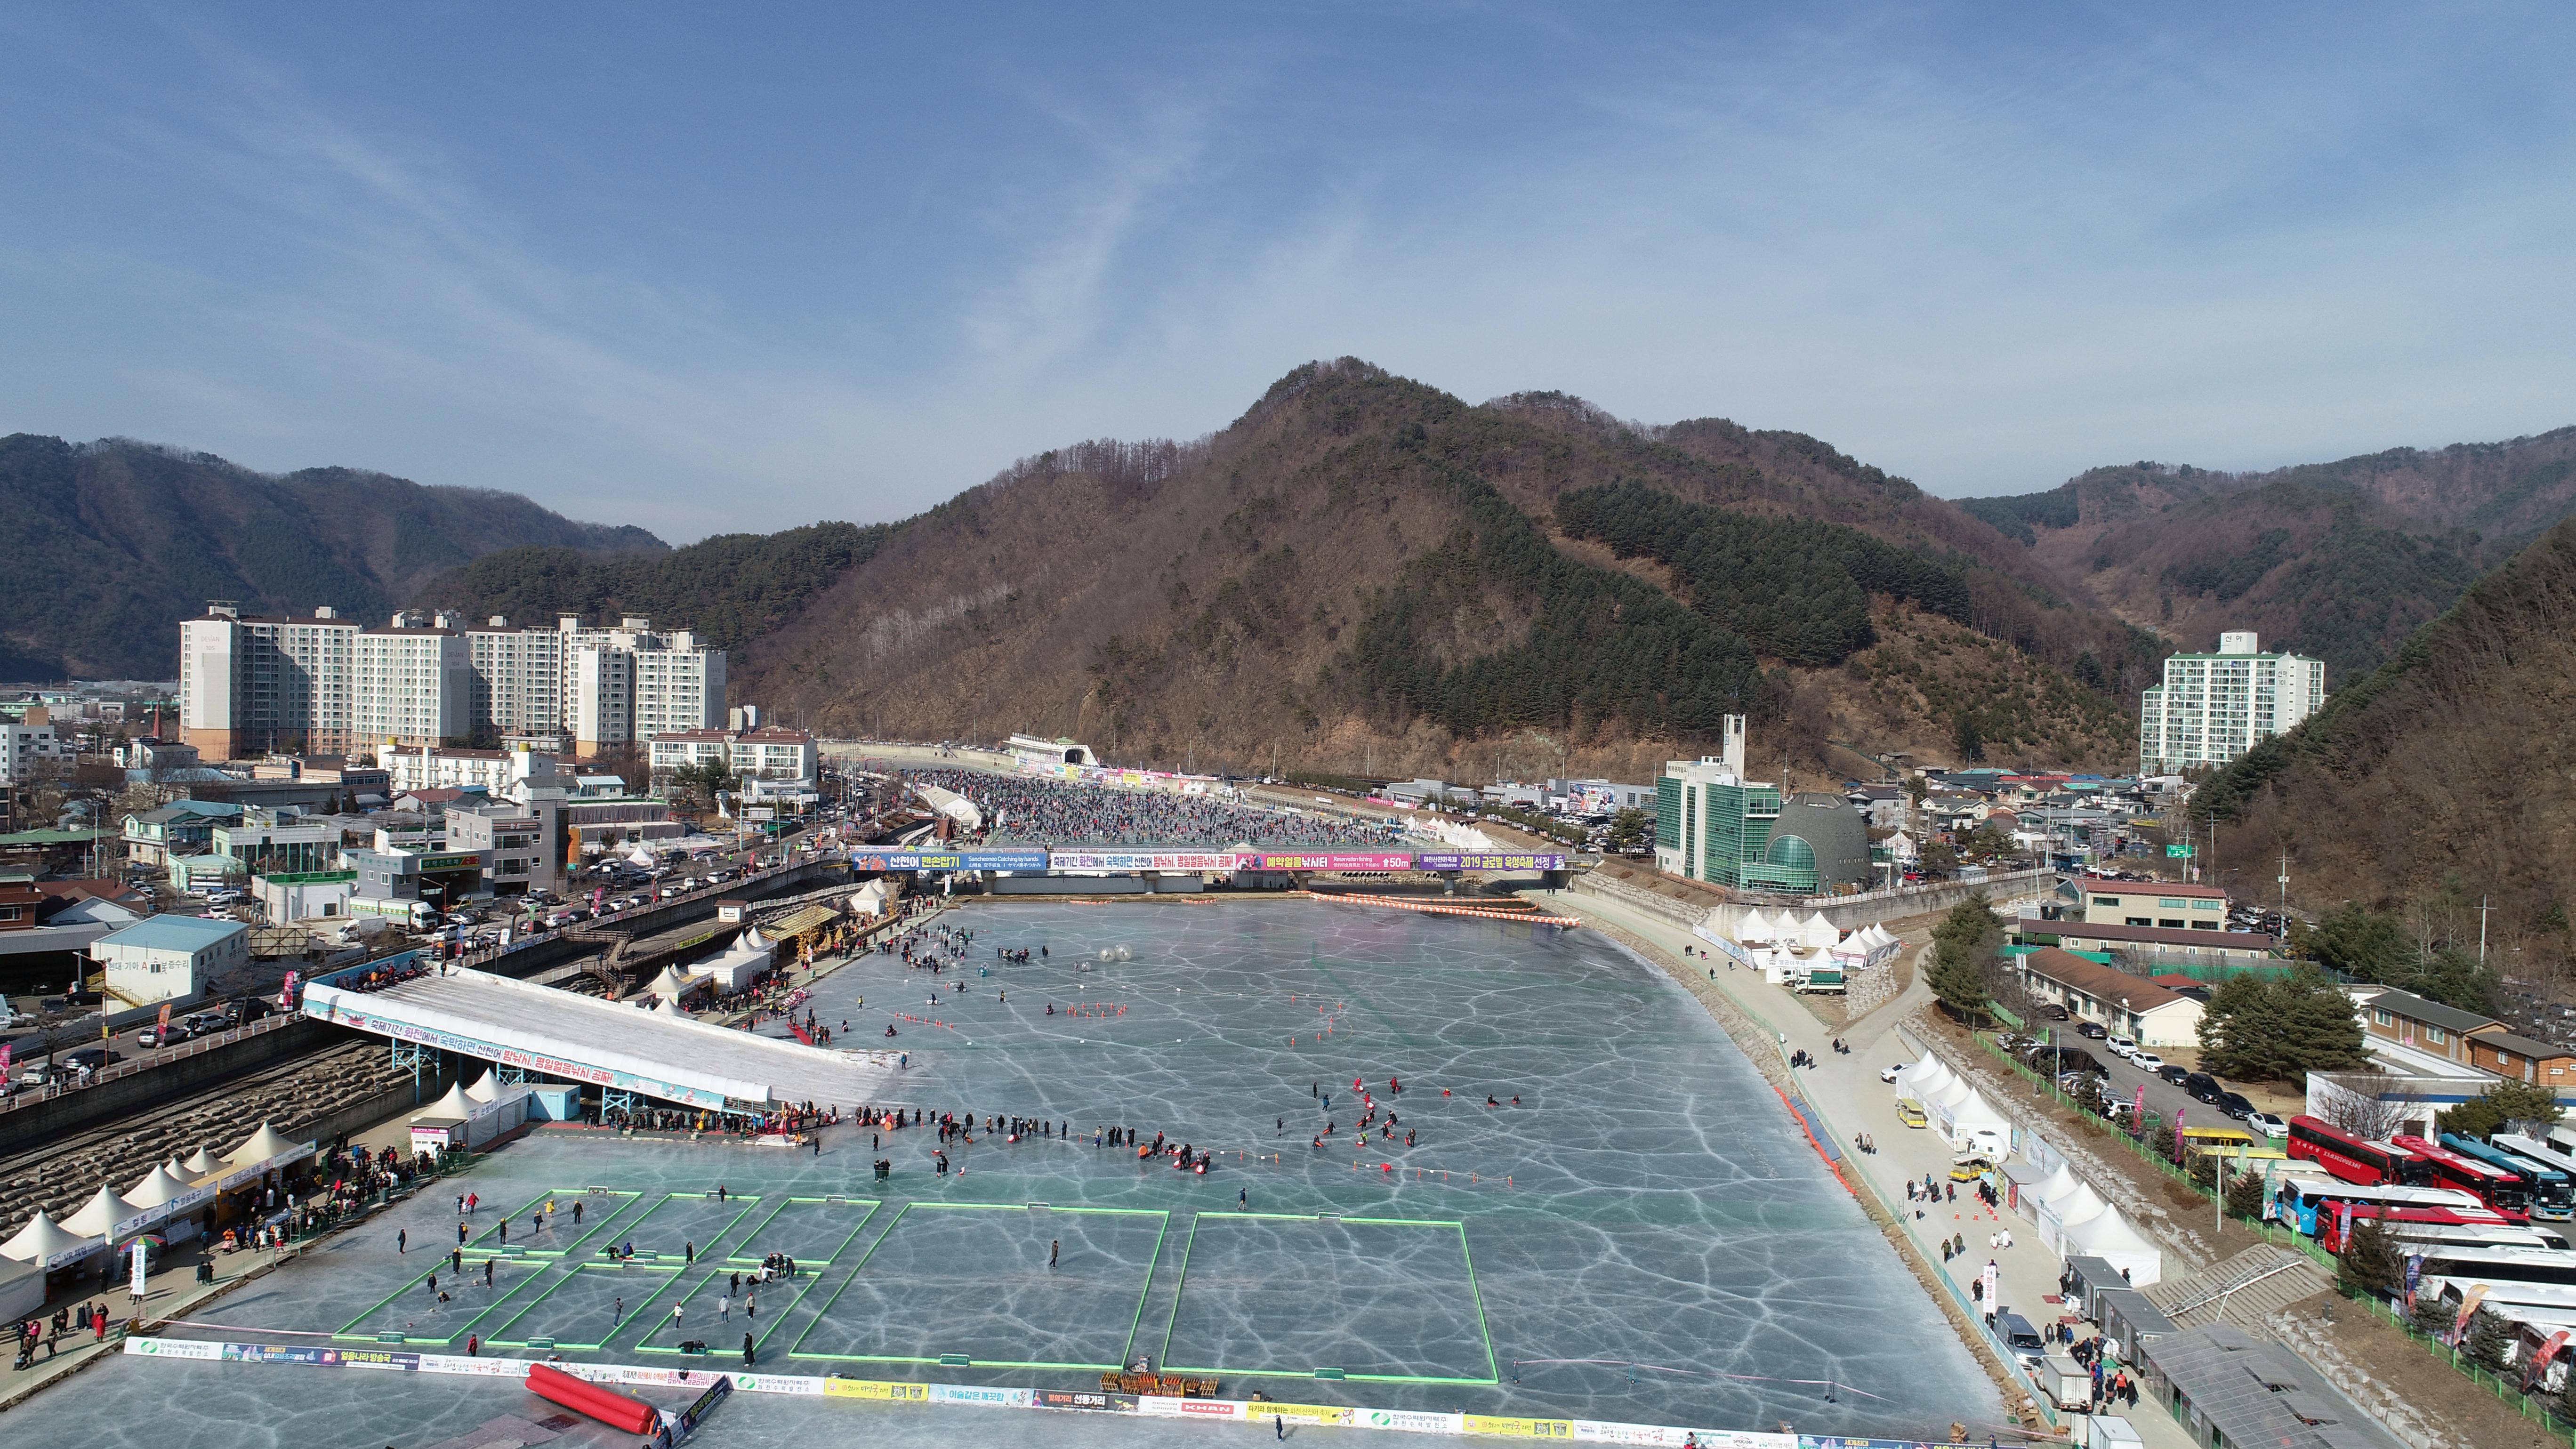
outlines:
[[[667,1325],[677,1297],[688,1336],[719,1351],[708,1366],[737,1366],[750,1330],[760,1366],[778,1372],[1092,1387],[1087,1372],[788,1351],[1100,1361],[1110,1351],[1162,1359],[1170,1343],[1172,1364],[1216,1364],[1229,1397],[1257,1387],[1303,1403],[1710,1428],[1790,1421],[1811,1434],[1888,1436],[1999,1415],[1971,1354],[1770,1085],[1687,993],[1595,933],[1314,902],[1012,902],[948,920],[971,926],[976,941],[963,969],[935,985],[963,980],[966,993],[940,990],[933,1008],[930,972],[868,957],[827,977],[814,1011],[835,1029],[848,1018],[845,1044],[909,1052],[889,1098],[933,1114],[1051,1116],[1072,1124],[1072,1142],[979,1134],[951,1145],[963,1173],[940,1178],[930,1132],[889,1134],[876,1152],[866,1137],[835,1134],[822,1158],[526,1140],[464,1181],[487,1204],[477,1243],[492,1204],[600,1183],[639,1196],[590,1199],[574,1258],[629,1238],[631,1222],[639,1253],[696,1245],[701,1263],[634,1271],[634,1294],[618,1294],[611,1276],[574,1276],[520,1328],[605,1323],[623,1307],[598,1356],[672,1364],[659,1351],[677,1338]],[[1046,962],[1005,967],[992,957],[994,946],[1038,944]],[[1097,959],[1105,946],[1128,946],[1131,959]],[[1077,957],[1087,969],[1074,969]],[[1100,1011],[1066,1013],[1074,1003]],[[902,1031],[891,1042],[889,1021]],[[1401,1096],[1388,1093],[1391,1075],[1404,1080]],[[1368,1080],[1381,1124],[1386,1106],[1401,1116],[1391,1140],[1355,1145],[1363,1109],[1352,1078]],[[1502,1106],[1486,1109],[1489,1093]],[[1327,1150],[1309,1150],[1327,1122],[1337,1127]],[[1218,1163],[1208,1176],[1139,1165],[1133,1152],[1090,1145],[1103,1124],[1139,1127],[1146,1140],[1167,1132],[1216,1150]],[[1419,1145],[1404,1147],[1406,1129]],[[891,1181],[871,1181],[873,1155],[894,1160]],[[737,1212],[696,1196],[716,1183],[762,1201]],[[850,1201],[781,1209],[788,1196]],[[871,1199],[884,1201],[871,1209]],[[361,1315],[361,1333],[412,1325],[415,1338],[492,1338],[569,1263],[505,1263],[489,1292],[479,1271],[461,1292],[440,1271],[453,1294],[440,1310],[417,1287],[425,1248],[397,1256],[392,1235],[407,1227],[415,1245],[453,1243],[451,1201],[402,1204],[198,1318],[247,1330],[234,1338],[268,1333],[281,1343],[299,1338],[278,1330],[332,1333]],[[1030,1212],[1033,1201],[1051,1209]],[[1074,1207],[1151,1217],[1066,1212]],[[1221,1217],[1239,1209],[1275,1217]],[[1463,1238],[1430,1227],[1445,1222],[1463,1222]],[[556,1217],[546,1238],[528,1245],[564,1248],[577,1235]],[[719,1320],[742,1266],[729,1258],[788,1240],[837,1253],[799,1253],[806,1274],[762,1289],[757,1320],[744,1320],[739,1299]],[[1043,1248],[1059,1240],[1066,1261],[1048,1271]],[[466,1263],[479,1269],[474,1248]],[[376,1307],[389,1294],[394,1302]],[[1499,1382],[1255,1377],[1311,1366]],[[1826,1403],[1798,1379],[1850,1387]],[[410,1449],[531,1405],[507,1382],[113,1359],[15,1408],[10,1431],[98,1449]],[[1188,1423],[1002,1413],[737,1397],[693,1444],[778,1449],[814,1434],[917,1444],[1007,1434],[1079,1446],[1206,1439]],[[562,1444],[623,1439],[574,1428]]]

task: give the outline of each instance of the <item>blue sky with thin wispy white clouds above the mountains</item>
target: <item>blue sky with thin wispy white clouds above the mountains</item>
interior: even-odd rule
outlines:
[[[938,13],[933,13],[938,10]],[[894,518],[1363,356],[1932,492],[2576,423],[2576,13],[18,5],[0,431]]]

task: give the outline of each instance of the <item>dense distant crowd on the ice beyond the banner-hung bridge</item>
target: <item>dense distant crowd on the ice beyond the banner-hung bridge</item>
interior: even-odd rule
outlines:
[[[971,771],[909,771],[984,812],[984,846],[1386,846],[1396,825],[1257,810],[1206,794],[1110,789]]]

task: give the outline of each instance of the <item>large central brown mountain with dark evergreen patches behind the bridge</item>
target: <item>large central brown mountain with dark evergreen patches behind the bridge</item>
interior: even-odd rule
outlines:
[[[1061,732],[1203,768],[1646,779],[1728,712],[1793,768],[1960,737],[2117,766],[2107,688],[2151,668],[2009,539],[1814,438],[1471,407],[1358,361],[1195,443],[1059,449],[832,529],[495,554],[417,601],[701,624],[737,650],[737,701],[824,732]]]

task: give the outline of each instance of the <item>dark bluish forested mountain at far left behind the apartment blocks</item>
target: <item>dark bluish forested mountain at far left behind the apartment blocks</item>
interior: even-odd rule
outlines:
[[[175,678],[178,621],[245,611],[389,616],[477,554],[551,544],[662,552],[644,529],[574,523],[515,492],[381,472],[263,474],[106,438],[0,438],[0,678]]]

